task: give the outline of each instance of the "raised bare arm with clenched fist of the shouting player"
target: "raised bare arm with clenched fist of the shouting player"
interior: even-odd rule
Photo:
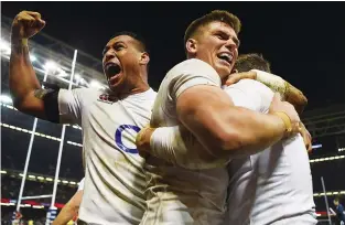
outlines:
[[[42,89],[30,61],[28,39],[41,31],[45,22],[37,12],[22,11],[12,23],[10,92],[20,111],[46,119]]]

